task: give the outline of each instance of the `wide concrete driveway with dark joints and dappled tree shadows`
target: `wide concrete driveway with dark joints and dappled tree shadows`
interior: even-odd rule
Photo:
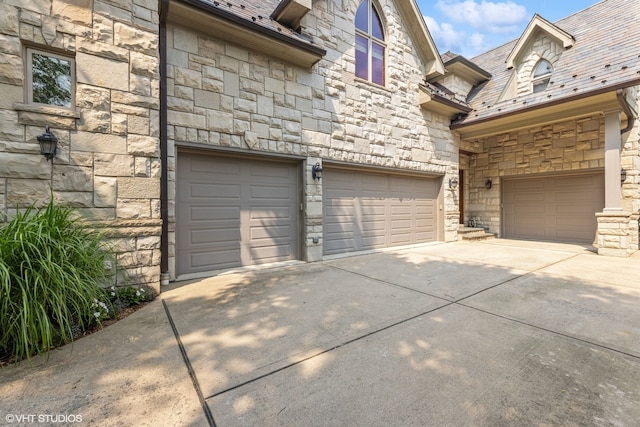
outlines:
[[[47,364],[0,370],[0,410],[92,425],[637,426],[639,276],[640,255],[502,239],[225,272]]]

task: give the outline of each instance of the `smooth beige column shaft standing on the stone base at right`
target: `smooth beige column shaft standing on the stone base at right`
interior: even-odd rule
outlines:
[[[622,189],[620,186],[620,112],[605,113],[604,116],[604,212],[622,212]]]

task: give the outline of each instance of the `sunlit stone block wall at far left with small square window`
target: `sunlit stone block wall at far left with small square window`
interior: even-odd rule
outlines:
[[[26,103],[27,46],[74,58],[71,109]],[[157,1],[5,0],[0,55],[0,215],[53,193],[112,239],[129,283],[158,289]],[[45,126],[53,161],[39,154]]]

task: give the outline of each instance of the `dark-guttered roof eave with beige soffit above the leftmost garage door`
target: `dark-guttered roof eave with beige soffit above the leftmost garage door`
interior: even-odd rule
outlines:
[[[311,37],[271,18],[278,4],[277,0],[170,0],[167,16],[169,21],[310,67],[326,51]]]

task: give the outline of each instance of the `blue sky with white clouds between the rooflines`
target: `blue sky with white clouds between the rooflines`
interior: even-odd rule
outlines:
[[[440,54],[473,58],[520,37],[534,13],[555,22],[598,0],[416,0]]]

